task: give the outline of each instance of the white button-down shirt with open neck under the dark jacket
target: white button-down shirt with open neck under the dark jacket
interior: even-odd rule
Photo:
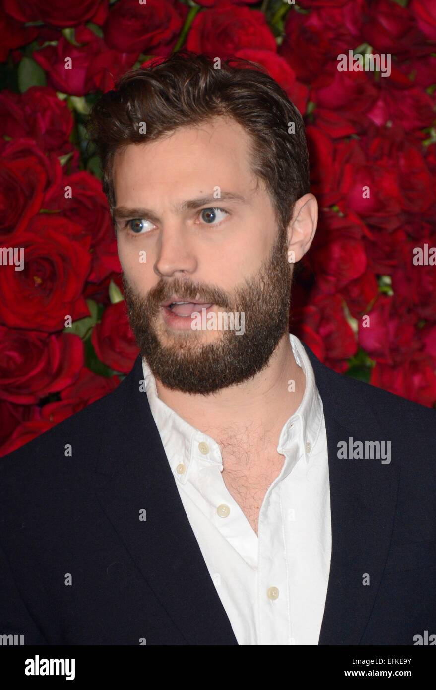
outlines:
[[[306,386],[281,429],[277,452],[285,460],[261,504],[258,535],[226,488],[219,445],[159,399],[143,359],[150,410],[181,502],[241,645],[318,644],[326,603],[331,522],[324,411],[313,368],[292,333],[290,344]]]

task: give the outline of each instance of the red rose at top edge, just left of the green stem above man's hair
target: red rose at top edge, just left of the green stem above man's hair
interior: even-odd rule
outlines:
[[[120,52],[152,52],[175,41],[182,19],[167,0],[137,0],[116,3],[104,26],[104,39],[110,48]]]

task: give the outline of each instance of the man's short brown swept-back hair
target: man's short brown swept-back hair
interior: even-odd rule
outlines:
[[[119,148],[221,115],[235,119],[250,135],[252,171],[266,185],[277,222],[288,225],[295,201],[309,191],[303,119],[263,66],[230,57],[215,68],[215,60],[186,49],[153,59],[126,72],[92,107],[88,137],[97,147],[111,210],[116,203],[112,165]],[[141,122],[146,122],[146,134]],[[288,133],[290,122],[294,133]]]

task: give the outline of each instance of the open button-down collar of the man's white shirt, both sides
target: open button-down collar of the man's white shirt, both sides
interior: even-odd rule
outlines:
[[[286,455],[299,444],[304,460],[308,463],[321,431],[323,407],[321,396],[315,384],[315,375],[308,355],[301,341],[289,334],[295,362],[301,366],[306,377],[304,395],[295,413],[281,429],[277,451]],[[168,462],[175,477],[185,484],[194,459],[207,464],[217,464],[222,470],[221,451],[217,442],[182,419],[157,395],[156,380],[146,359],[142,359],[143,377],[150,411],[157,425]],[[293,395],[292,388],[289,395]],[[286,456],[287,457],[287,456]]]

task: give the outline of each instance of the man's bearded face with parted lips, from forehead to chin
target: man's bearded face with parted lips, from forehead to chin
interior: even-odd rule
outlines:
[[[264,184],[250,170],[248,146],[244,128],[216,118],[115,156],[130,325],[152,373],[168,388],[208,394],[247,380],[288,331],[286,228],[278,230]],[[209,200],[177,208],[199,197]],[[121,219],[121,208],[141,213]],[[206,304],[162,306],[172,297]],[[190,313],[206,307],[202,324],[213,326],[215,313],[216,327],[192,328]],[[237,315],[244,328],[220,330],[219,312]]]

